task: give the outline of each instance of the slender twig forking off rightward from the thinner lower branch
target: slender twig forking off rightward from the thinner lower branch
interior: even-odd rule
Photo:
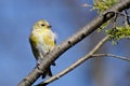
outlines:
[[[119,58],[119,59],[122,59],[122,60],[130,61],[130,58],[122,57],[122,56],[117,56],[117,55],[114,55],[114,54],[93,54],[92,55],[92,57],[104,57],[104,56]]]

